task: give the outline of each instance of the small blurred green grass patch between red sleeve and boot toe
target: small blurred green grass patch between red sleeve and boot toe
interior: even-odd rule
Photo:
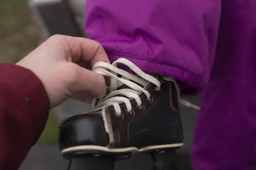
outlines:
[[[50,110],[49,118],[47,120],[46,126],[40,136],[38,143],[43,144],[57,144],[58,142],[58,125],[59,120],[54,110]]]

